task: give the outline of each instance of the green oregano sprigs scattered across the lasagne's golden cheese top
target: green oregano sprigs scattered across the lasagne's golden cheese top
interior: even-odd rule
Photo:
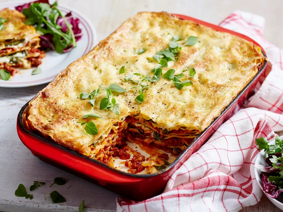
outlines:
[[[135,100],[139,103],[144,102],[144,90],[148,88],[148,83],[146,82],[158,82],[161,77],[167,80],[172,80],[175,87],[179,90],[181,90],[184,86],[191,86],[193,85],[193,82],[191,81],[191,78],[193,78],[196,74],[195,69],[192,67],[191,69],[185,69],[179,74],[175,74],[174,69],[169,69],[165,74],[163,74],[162,69],[168,67],[169,61],[176,61],[178,58],[176,57],[180,50],[182,50],[183,46],[193,46],[198,42],[198,37],[196,36],[189,36],[187,40],[182,40],[178,35],[173,35],[171,33],[168,33],[167,35],[172,36],[171,40],[168,42],[168,47],[164,50],[161,50],[159,52],[156,52],[152,57],[155,61],[157,61],[157,65],[151,70],[153,73],[153,76],[145,76],[141,75],[139,73],[129,73],[128,76],[124,77],[124,80],[126,82],[131,81],[133,83],[133,88],[137,88],[137,91],[139,94],[136,96]],[[140,55],[143,54],[146,51],[144,48],[139,48],[133,50],[134,54]],[[135,55],[135,56],[137,56]],[[136,60],[138,61],[138,60]],[[140,64],[138,64],[140,65]],[[135,68],[138,69],[138,66],[135,66]],[[120,67],[119,73],[123,74],[125,72],[130,72],[131,65],[127,64],[127,70],[126,66],[123,65]],[[186,71],[189,71],[187,73]],[[184,73],[186,72],[186,73]],[[185,79],[184,79],[185,78]],[[122,84],[122,83],[121,83]],[[123,84],[122,84],[123,85]],[[105,96],[101,98],[100,102],[96,102],[97,95],[101,95],[102,92],[105,92]],[[85,93],[82,92],[80,94],[80,98],[83,100],[87,100],[87,102],[90,103],[92,107],[98,107],[100,110],[107,110],[112,111],[116,115],[120,115],[121,111],[119,108],[119,104],[116,102],[115,96],[113,95],[113,92],[117,93],[124,93],[126,90],[122,88],[120,85],[117,84],[111,84],[109,87],[103,86],[101,84],[97,89],[94,89],[91,93]],[[99,115],[95,113],[90,113],[83,115],[82,118],[84,119],[93,119],[93,118],[101,118]],[[82,126],[85,126],[85,132],[91,135],[98,134],[98,129],[96,125],[92,121],[85,121],[81,123]]]

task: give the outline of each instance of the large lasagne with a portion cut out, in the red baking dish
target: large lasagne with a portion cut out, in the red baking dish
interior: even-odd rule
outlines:
[[[29,102],[24,120],[42,136],[113,168],[154,173],[219,116],[264,60],[260,47],[235,35],[165,12],[140,12],[58,74]],[[162,77],[152,80],[159,67]],[[187,71],[192,68],[194,76]],[[170,70],[180,80],[168,80]],[[151,80],[139,83],[147,76]],[[178,83],[184,87],[177,89]],[[105,94],[111,84],[126,91]],[[137,99],[141,87],[144,101]],[[115,97],[118,115],[114,108],[100,110],[105,95]],[[89,134],[90,121],[97,131]]]

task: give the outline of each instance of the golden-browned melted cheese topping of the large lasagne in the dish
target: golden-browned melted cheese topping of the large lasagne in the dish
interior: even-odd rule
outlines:
[[[136,72],[153,76],[150,70],[157,62],[152,55],[168,47],[172,38],[168,33],[181,37],[180,44],[184,44],[188,36],[198,37],[196,45],[183,46],[178,60],[170,61],[162,70],[164,74],[173,68],[175,74],[180,74],[185,68],[194,67],[193,85],[179,91],[172,82],[161,77],[158,82],[147,83],[144,102],[139,104],[135,101],[138,90],[124,78]],[[138,55],[140,48],[146,51]],[[102,144],[103,139],[99,140],[100,136],[105,137],[117,123],[133,114],[152,119],[169,131],[185,127],[199,133],[247,85],[263,60],[258,46],[237,36],[180,20],[165,12],[141,12],[126,20],[87,55],[71,63],[40,91],[29,103],[27,122],[31,129],[84,155],[90,155],[90,145],[96,140],[102,148],[105,144]],[[126,71],[120,74],[124,65]],[[132,79],[137,80],[137,76]],[[99,109],[105,92],[96,97],[94,108],[87,100],[80,100],[81,92],[90,93],[102,83],[107,87],[116,83],[126,89],[127,92],[121,94],[113,92],[120,105],[120,116]],[[101,119],[81,117],[90,113],[96,113]],[[97,135],[85,132],[81,123],[87,121],[96,124]]]

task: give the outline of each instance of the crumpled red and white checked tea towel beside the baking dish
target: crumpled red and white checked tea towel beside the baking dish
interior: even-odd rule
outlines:
[[[256,40],[271,62],[267,78],[245,108],[226,121],[200,150],[172,175],[165,191],[137,202],[117,198],[117,211],[239,211],[256,204],[262,192],[254,176],[259,153],[255,139],[283,130],[283,50],[263,37],[264,18],[234,12],[220,26]]]

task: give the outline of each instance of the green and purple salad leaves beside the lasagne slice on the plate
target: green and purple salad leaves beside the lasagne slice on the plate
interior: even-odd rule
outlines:
[[[40,33],[40,46],[45,50],[68,52],[77,46],[76,41],[82,36],[80,20],[71,12],[64,16],[57,2],[50,5],[48,1],[41,0],[18,6],[16,10],[26,16],[25,24],[34,25]]]

